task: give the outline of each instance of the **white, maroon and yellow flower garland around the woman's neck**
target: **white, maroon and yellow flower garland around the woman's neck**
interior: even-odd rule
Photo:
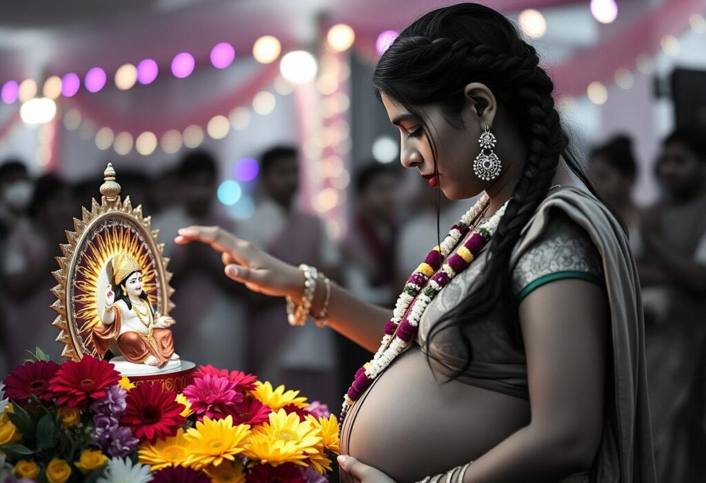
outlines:
[[[441,245],[433,247],[429,255],[426,255],[424,262],[409,276],[405,288],[397,298],[393,317],[385,324],[385,335],[380,348],[373,360],[358,369],[353,384],[344,396],[341,423],[349,408],[371,386],[373,380],[412,343],[412,339],[417,335],[419,329],[421,314],[424,313],[431,300],[448,285],[453,277],[469,266],[495,233],[500,219],[505,213],[507,202],[490,219],[479,224],[468,240],[443,263],[443,260],[468,233],[472,222],[481,215],[488,202],[488,195],[484,195],[476,202],[461,217],[461,220],[451,227]],[[341,424],[340,427],[342,428],[343,425]]]

